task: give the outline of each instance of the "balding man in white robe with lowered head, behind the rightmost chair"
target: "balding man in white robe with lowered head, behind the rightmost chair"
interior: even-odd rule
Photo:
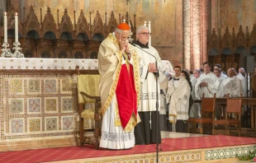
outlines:
[[[221,97],[240,97],[243,92],[241,81],[235,77],[235,69],[228,69],[228,78],[222,81],[220,85]]]

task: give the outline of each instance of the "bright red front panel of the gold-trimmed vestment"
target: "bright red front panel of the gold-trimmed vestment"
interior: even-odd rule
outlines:
[[[137,116],[137,94],[133,67],[130,64],[129,70],[126,64],[121,65],[121,72],[116,86],[116,99],[123,128],[126,128],[133,112]]]

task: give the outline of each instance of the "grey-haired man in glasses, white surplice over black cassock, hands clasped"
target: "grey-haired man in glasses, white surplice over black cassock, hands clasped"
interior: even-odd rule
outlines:
[[[135,144],[156,143],[156,135],[158,142],[161,142],[160,126],[157,131],[157,113],[156,101],[158,94],[158,102],[160,105],[160,86],[159,80],[156,82],[155,73],[162,72],[162,64],[159,53],[149,43],[149,28],[147,26],[139,26],[136,31],[137,40],[134,42],[140,59],[140,104],[138,114],[141,122],[135,127]],[[153,55],[153,56],[152,56]],[[156,90],[156,85],[158,90]],[[158,122],[159,124],[159,122]]]

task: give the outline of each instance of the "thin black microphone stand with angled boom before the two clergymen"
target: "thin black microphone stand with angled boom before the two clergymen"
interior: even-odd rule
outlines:
[[[129,42],[130,43],[130,42]],[[130,43],[131,45],[135,46],[138,49],[141,49],[145,53],[149,54],[149,52],[145,51],[144,49],[140,48],[139,46]],[[158,68],[158,61],[156,57],[153,54],[149,54],[154,57],[155,59],[155,66]],[[155,88],[156,88],[156,103],[155,103],[155,108],[156,108],[156,162],[159,162],[159,70],[157,72],[153,72],[155,76]],[[161,134],[161,133],[160,133]],[[162,150],[162,147],[161,147]]]

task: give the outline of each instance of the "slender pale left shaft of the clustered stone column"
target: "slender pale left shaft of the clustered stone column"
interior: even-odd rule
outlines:
[[[190,0],[183,0],[183,40],[184,40],[184,68],[191,69],[191,40],[190,40]]]

